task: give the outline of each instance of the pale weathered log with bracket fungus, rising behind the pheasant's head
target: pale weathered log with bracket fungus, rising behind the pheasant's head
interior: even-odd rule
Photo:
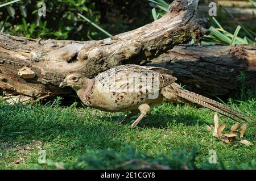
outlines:
[[[0,91],[32,98],[73,94],[59,88],[70,71],[92,78],[114,66],[145,63],[191,37],[199,41],[208,33],[208,21],[197,14],[198,3],[174,1],[159,20],[100,41],[34,40],[0,33]]]

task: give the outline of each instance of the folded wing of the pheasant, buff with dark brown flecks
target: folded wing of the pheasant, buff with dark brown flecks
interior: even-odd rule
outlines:
[[[102,87],[110,92],[151,94],[176,81],[172,71],[153,66],[121,65],[97,75]]]

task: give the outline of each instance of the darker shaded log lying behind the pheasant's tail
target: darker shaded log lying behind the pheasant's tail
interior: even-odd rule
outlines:
[[[245,73],[248,89],[256,89],[256,47],[250,45],[179,45],[149,65],[174,71],[177,82],[202,95],[230,95]]]

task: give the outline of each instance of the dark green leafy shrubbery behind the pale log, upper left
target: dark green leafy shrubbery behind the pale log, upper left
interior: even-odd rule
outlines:
[[[5,2],[9,1],[2,5]],[[40,2],[24,0],[0,7],[2,31],[31,38],[99,40],[151,21],[147,0],[45,0],[45,17],[38,15]]]

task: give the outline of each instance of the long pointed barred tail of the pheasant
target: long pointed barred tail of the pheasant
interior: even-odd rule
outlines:
[[[237,121],[238,123],[246,122],[246,123],[249,123],[250,125],[253,125],[253,127],[255,127],[255,120],[250,116],[246,115],[245,113],[234,110],[215,100],[196,94],[195,92],[184,90],[180,86],[175,86],[175,85],[170,85],[170,86],[172,87],[172,94],[175,94],[183,99],[189,100],[192,103],[199,104],[210,110],[218,112],[226,117],[230,117],[231,119]]]

